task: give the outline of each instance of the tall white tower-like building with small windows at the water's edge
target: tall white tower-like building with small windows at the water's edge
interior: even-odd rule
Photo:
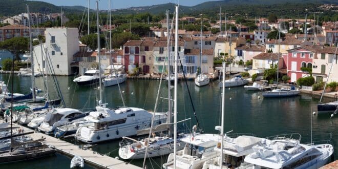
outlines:
[[[41,71],[42,67],[46,67],[45,56],[47,53],[50,61],[49,66],[52,66],[55,75],[78,73],[78,68],[72,68],[71,66],[73,55],[79,52],[77,28],[47,28],[45,37],[46,43],[43,44],[44,54],[41,54],[40,45],[34,46],[34,71]],[[44,56],[44,59],[41,56]]]

